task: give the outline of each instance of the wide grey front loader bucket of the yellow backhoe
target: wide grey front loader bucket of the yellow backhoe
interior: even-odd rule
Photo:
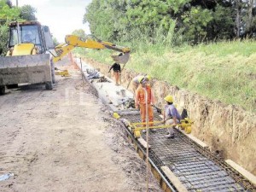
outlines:
[[[0,57],[0,85],[51,81],[49,54]]]

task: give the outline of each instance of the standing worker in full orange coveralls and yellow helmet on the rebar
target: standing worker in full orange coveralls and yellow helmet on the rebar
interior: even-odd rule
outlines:
[[[136,90],[135,107],[140,108],[142,123],[146,122],[146,102],[148,104],[148,121],[154,121],[154,112],[152,106],[154,105],[154,93],[151,87],[148,85],[148,79],[141,77],[138,79],[140,85]],[[146,92],[148,100],[146,101]],[[153,124],[149,123],[149,126]],[[143,125],[145,126],[145,125]],[[154,130],[152,130],[154,131]]]

